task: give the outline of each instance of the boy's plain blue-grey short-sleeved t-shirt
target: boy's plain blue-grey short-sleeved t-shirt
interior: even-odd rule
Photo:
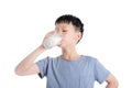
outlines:
[[[96,58],[84,55],[75,61],[46,57],[36,65],[38,76],[47,77],[47,88],[94,88],[95,80],[102,84],[110,75]]]

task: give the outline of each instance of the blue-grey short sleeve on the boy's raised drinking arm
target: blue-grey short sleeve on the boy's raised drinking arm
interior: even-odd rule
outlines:
[[[38,66],[38,69],[40,69],[38,76],[41,78],[46,76],[47,75],[47,67],[48,67],[48,57],[36,62],[36,65]]]

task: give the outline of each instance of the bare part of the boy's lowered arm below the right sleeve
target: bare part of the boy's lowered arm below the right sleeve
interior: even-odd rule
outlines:
[[[118,88],[119,86],[118,80],[112,74],[110,74],[109,77],[107,78],[107,82],[108,85],[106,88]]]

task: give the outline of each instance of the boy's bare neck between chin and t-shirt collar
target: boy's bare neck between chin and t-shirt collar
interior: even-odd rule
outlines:
[[[77,53],[76,48],[75,47],[72,47],[72,48],[65,48],[65,50],[62,50],[63,52],[63,57],[65,59],[77,59],[80,57],[80,55]]]

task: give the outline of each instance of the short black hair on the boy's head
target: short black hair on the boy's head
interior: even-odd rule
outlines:
[[[80,21],[79,18],[72,15],[72,14],[64,14],[57,18],[57,20],[55,21],[55,24],[57,23],[72,23],[75,26],[75,30],[81,33],[81,37],[82,37],[84,23]]]

